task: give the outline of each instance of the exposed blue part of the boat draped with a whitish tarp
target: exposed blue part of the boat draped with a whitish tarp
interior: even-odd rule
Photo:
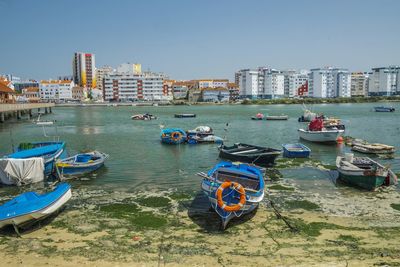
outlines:
[[[21,143],[17,152],[9,154],[6,158],[28,159],[42,157],[44,160],[44,173],[46,176],[52,174],[54,163],[58,158],[65,158],[66,150],[64,142],[34,142]]]

